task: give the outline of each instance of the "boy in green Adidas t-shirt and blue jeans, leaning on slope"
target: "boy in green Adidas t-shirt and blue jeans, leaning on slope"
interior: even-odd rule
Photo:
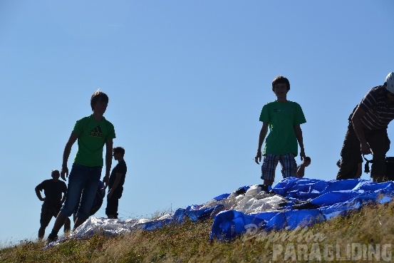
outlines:
[[[90,208],[93,205],[95,192],[100,183],[103,169],[103,148],[105,146],[105,176],[103,182],[108,185],[110,168],[112,165],[113,139],[115,129],[113,124],[104,118],[108,106],[108,96],[101,91],[95,91],[90,98],[90,107],[93,113],[76,121],[70,138],[63,151],[63,164],[61,178],[68,177],[68,156],[73,144],[78,140],[78,152],[68,178],[68,190],[66,201],[56,217],[51,234],[46,239],[47,243],[56,240],[58,231],[66,219],[77,210],[76,222],[73,230],[76,230],[89,217]]]

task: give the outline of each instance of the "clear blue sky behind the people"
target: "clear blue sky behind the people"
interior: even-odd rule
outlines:
[[[393,11],[390,0],[0,0],[0,244],[36,239],[34,187],[60,169],[98,88],[126,151],[123,219],[261,183],[259,114],[278,75],[306,115],[306,177],[335,179],[348,115],[394,71]]]

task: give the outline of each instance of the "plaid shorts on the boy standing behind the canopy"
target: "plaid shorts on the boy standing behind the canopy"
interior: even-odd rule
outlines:
[[[297,163],[294,159],[293,153],[286,153],[285,155],[264,155],[263,165],[261,165],[261,179],[275,180],[275,169],[278,162],[281,163],[281,172],[284,178],[296,177]]]

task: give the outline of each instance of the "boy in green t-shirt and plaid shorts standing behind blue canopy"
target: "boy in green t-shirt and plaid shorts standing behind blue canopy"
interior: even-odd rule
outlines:
[[[264,180],[263,190],[267,191],[274,183],[275,169],[278,162],[282,165],[282,174],[286,177],[296,177],[298,144],[301,148],[301,160],[305,158],[304,143],[300,124],[306,123],[304,113],[298,103],[287,100],[290,83],[284,76],[278,76],[272,81],[272,91],[276,100],[264,105],[260,121],[263,123],[257,154],[254,161],[261,162],[261,146],[266,138],[262,155],[261,179]],[[269,128],[269,135],[266,137]]]

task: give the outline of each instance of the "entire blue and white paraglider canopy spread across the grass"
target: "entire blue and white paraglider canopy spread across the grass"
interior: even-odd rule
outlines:
[[[173,215],[165,215],[157,220],[97,221],[92,218],[78,227],[73,236],[88,238],[92,234],[117,235],[136,228],[157,230],[165,225],[182,224],[186,218],[198,222],[213,217],[209,239],[228,241],[246,233],[249,227],[266,232],[294,230],[296,227],[307,227],[338,215],[346,215],[368,202],[390,202],[394,196],[394,183],[289,177],[281,180],[271,191],[269,195],[261,191],[258,185],[239,187],[231,194],[214,197],[204,205],[179,208]],[[100,206],[103,192],[98,191],[96,197],[98,202],[93,207]]]

